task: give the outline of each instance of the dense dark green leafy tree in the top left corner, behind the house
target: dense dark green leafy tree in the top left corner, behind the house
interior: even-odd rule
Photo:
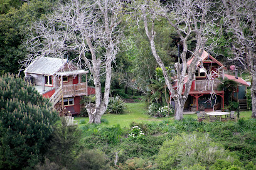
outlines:
[[[6,0],[4,0],[6,1]],[[11,0],[14,3],[16,0]],[[26,41],[31,22],[44,19],[50,12],[55,0],[31,0],[20,8],[11,8],[6,14],[0,15],[0,74],[17,74],[26,56]],[[1,3],[0,3],[1,4]]]

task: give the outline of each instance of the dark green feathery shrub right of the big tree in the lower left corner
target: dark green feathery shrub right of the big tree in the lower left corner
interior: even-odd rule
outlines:
[[[67,126],[65,118],[61,119],[61,125],[55,126],[48,144],[47,158],[59,166],[70,169],[82,148],[80,138],[82,136],[77,126]]]

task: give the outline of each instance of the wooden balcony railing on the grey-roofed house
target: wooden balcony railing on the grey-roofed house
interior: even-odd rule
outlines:
[[[64,98],[70,98],[75,96],[85,96],[85,95],[88,95],[86,83],[63,85]]]

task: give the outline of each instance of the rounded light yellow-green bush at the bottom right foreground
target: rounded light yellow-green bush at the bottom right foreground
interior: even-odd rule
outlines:
[[[208,134],[182,133],[181,136],[164,142],[156,162],[160,169],[183,169],[198,163],[209,167],[216,159],[233,160],[223,146],[211,141]]]

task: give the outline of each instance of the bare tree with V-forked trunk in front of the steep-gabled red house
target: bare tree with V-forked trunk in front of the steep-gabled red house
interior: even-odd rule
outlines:
[[[195,78],[198,62],[201,61],[200,57],[203,49],[205,49],[206,41],[209,34],[211,34],[210,32],[213,31],[218,17],[215,16],[214,11],[211,11],[213,6],[215,6],[213,2],[206,0],[176,0],[171,2],[171,4],[163,7],[159,1],[149,0],[142,2],[139,8],[141,9],[141,19],[144,21],[144,28],[151,45],[152,54],[163,70],[166,85],[169,91],[171,91],[171,97],[175,102],[175,119],[181,120],[183,119],[184,103],[188,98],[192,81]],[[209,17],[208,14],[210,12],[211,16]],[[180,39],[180,44],[183,47],[181,62],[174,64],[177,74],[176,88],[173,88],[171,78],[168,77],[164,63],[157,54],[154,42],[154,37],[157,35],[157,32],[154,30],[154,22],[159,19],[166,19],[169,26],[174,27]],[[191,41],[191,39],[196,41],[194,49],[188,49],[188,41]],[[210,44],[210,46],[215,45],[214,42]],[[189,66],[187,64],[188,59],[186,58],[188,53],[193,57],[193,61]],[[188,76],[186,83],[185,76]]]

